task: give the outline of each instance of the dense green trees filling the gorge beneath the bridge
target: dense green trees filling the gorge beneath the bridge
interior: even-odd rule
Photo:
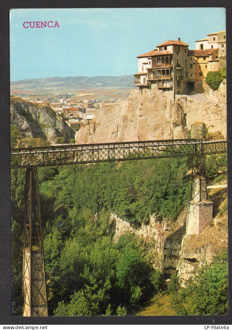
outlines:
[[[221,157],[215,172],[223,163]],[[50,314],[126,315],[146,301],[150,292],[159,293],[162,274],[152,267],[150,246],[131,233],[114,242],[111,215],[115,213],[134,227],[149,221],[152,214],[175,221],[190,196],[188,161],[177,158],[39,169]],[[209,161],[207,166],[211,167]],[[22,306],[18,270],[22,268],[24,186],[25,171],[13,170],[15,315],[21,314]],[[174,278],[169,290],[175,288],[179,287]],[[186,308],[184,313],[190,313]]]

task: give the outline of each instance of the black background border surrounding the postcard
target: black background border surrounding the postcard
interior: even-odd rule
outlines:
[[[141,8],[141,7],[225,7],[227,53],[227,139],[228,139],[228,316],[81,316],[13,317],[11,316],[11,221],[10,221],[10,62],[9,9],[11,8]],[[0,324],[232,324],[232,2],[231,0],[1,0],[0,2]],[[216,19],[216,17],[215,17]],[[178,23],[178,22],[177,22]],[[189,24],[193,25],[189,17]]]

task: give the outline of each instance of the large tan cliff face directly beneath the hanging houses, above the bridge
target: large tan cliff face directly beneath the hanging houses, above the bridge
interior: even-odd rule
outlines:
[[[218,100],[218,101],[217,101]],[[187,138],[195,122],[204,122],[209,132],[226,137],[226,82],[218,91],[176,95],[156,85],[132,90],[127,101],[102,106],[94,121],[77,132],[79,144]]]

